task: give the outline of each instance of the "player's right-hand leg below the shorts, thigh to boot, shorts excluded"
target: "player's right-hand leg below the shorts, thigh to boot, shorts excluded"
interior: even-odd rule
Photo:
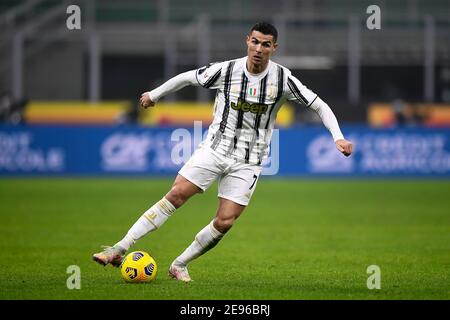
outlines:
[[[191,245],[174,260],[169,268],[169,276],[185,282],[191,281],[187,264],[214,248],[225,233],[231,229],[234,221],[242,214],[244,209],[244,205],[219,198],[216,217],[197,233]]]

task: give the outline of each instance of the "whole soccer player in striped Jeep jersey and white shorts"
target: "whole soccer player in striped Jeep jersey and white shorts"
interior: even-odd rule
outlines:
[[[345,156],[352,153],[352,143],[344,139],[329,106],[287,68],[270,60],[278,46],[277,35],[273,25],[257,23],[247,35],[247,56],[179,74],[142,94],[140,104],[148,108],[189,85],[215,89],[214,120],[207,138],[181,168],[170,191],[136,221],[122,240],[94,254],[95,261],[119,266],[138,239],[161,227],[190,197],[204,192],[218,179],[216,216],[169,268],[172,278],[191,281],[187,265],[212,249],[249,204],[261,163],[268,155],[277,112],[286,99],[317,112],[337,150]]]

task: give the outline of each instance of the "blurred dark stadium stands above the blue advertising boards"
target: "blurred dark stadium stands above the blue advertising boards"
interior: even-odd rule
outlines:
[[[81,8],[80,30],[66,27],[71,4]],[[280,32],[274,60],[323,96],[341,121],[388,126],[398,111],[406,121],[448,125],[449,2],[377,1],[381,30],[366,27],[370,4],[356,0],[3,0],[0,116],[13,123],[135,120],[133,116],[118,119],[117,113],[134,108],[141,91],[179,72],[245,55],[243,41],[249,27],[268,20]],[[201,88],[183,90],[166,101],[210,102],[213,94]],[[47,101],[60,103],[43,103]],[[117,103],[113,111],[106,104],[109,112],[102,112],[98,120],[92,114],[54,119],[65,113],[53,115],[58,113],[51,111],[53,107],[75,107],[68,101],[81,102],[76,106],[80,117],[89,112],[86,103],[126,101],[128,106]],[[398,110],[394,101],[407,105]],[[14,113],[11,104],[21,108],[25,102],[25,112]],[[41,112],[50,112],[52,120]],[[154,124],[152,120],[158,122],[139,119]],[[292,122],[286,121],[315,119],[297,111]]]

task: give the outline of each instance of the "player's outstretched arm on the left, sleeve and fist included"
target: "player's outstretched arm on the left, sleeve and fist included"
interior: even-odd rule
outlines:
[[[162,97],[176,92],[186,86],[202,86],[208,89],[217,89],[221,83],[222,64],[210,64],[203,68],[181,73],[158,88],[144,92],[140,98],[140,104],[144,108],[153,107]]]

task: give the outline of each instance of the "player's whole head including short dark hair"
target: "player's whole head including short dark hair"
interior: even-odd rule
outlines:
[[[247,55],[250,63],[265,66],[276,50],[277,29],[268,22],[258,22],[247,35]]]

